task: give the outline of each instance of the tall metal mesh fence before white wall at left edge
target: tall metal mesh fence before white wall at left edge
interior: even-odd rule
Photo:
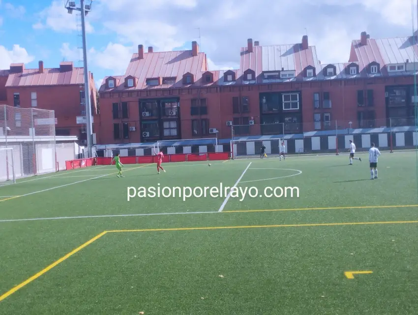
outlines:
[[[0,148],[14,156],[0,158],[0,182],[9,180],[11,163],[16,178],[56,171],[55,124],[54,111],[0,105]]]

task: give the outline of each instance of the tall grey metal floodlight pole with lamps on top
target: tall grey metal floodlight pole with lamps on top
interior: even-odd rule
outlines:
[[[86,2],[86,4],[85,4]],[[90,106],[90,89],[89,89],[89,70],[87,68],[87,48],[86,48],[86,16],[91,11],[91,3],[93,0],[80,0],[80,6],[76,5],[75,0],[67,0],[65,8],[68,14],[73,11],[81,12],[81,32],[83,38],[83,67],[84,67],[84,99],[86,104],[86,123],[87,123],[87,150],[89,158],[92,158],[91,147],[93,142],[92,124],[91,124],[91,106]]]

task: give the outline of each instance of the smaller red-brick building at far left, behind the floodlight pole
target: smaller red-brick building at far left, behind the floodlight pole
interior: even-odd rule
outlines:
[[[90,87],[92,112],[96,113],[92,74]],[[84,70],[74,67],[72,62],[60,63],[59,68],[44,68],[40,61],[37,69],[25,69],[25,65],[19,63],[0,70],[0,104],[54,110],[56,134],[75,135],[81,143],[86,142],[86,127],[76,121],[76,117],[86,116]]]

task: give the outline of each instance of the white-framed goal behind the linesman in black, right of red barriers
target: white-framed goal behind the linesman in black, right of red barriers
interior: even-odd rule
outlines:
[[[266,155],[278,156],[280,154],[280,146],[284,143],[285,153],[287,152],[286,140],[281,138],[267,140],[232,140],[231,151],[232,158],[255,158],[260,157],[261,148],[266,147]]]

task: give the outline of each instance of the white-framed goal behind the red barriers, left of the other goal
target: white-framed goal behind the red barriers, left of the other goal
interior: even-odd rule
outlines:
[[[218,141],[217,138],[163,140],[157,141],[157,148],[164,154],[218,152]]]

